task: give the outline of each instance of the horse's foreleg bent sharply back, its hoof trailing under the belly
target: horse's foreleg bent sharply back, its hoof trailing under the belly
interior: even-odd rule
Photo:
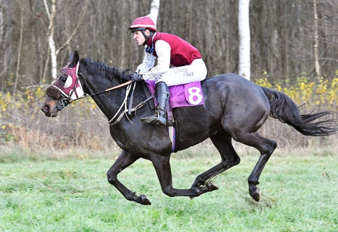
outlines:
[[[215,189],[210,189],[208,187],[195,187],[191,189],[174,189],[172,187],[172,173],[170,168],[170,156],[152,156],[152,165],[155,167],[157,177],[161,184],[161,189],[164,194],[175,197],[175,196],[190,196],[197,197],[208,191]]]

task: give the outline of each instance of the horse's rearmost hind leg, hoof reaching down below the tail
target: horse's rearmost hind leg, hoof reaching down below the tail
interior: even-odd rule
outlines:
[[[248,178],[250,196],[258,202],[261,196],[261,190],[257,187],[259,176],[261,176],[261,171],[263,171],[266,162],[277,147],[277,143],[257,133],[239,133],[234,136],[234,139],[250,147],[255,147],[261,152],[261,156]]]

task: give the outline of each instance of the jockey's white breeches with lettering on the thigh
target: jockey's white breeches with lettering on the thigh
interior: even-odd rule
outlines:
[[[155,83],[164,81],[168,86],[183,85],[206,78],[206,64],[202,59],[195,59],[190,65],[171,67],[168,72],[151,78]]]

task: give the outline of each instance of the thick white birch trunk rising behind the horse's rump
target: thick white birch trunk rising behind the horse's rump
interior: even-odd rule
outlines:
[[[250,0],[239,0],[239,75],[250,81]]]

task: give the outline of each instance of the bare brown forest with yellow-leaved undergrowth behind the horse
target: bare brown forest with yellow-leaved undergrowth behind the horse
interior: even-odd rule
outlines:
[[[57,70],[73,50],[120,70],[141,62],[143,48],[134,44],[128,26],[149,13],[150,0],[55,3]],[[110,149],[115,145],[106,118],[91,100],[74,103],[57,118],[40,111],[44,89],[53,82],[51,6],[52,1],[0,0],[0,144],[29,150]],[[308,102],[302,108],[307,113],[336,111],[338,98],[338,1],[317,0],[316,6],[314,12],[312,0],[250,1],[251,81],[286,92],[298,105]],[[238,1],[161,1],[157,28],[198,48],[208,76],[238,72]],[[320,76],[315,74],[315,39]],[[307,140],[277,120],[269,120],[261,133],[281,146],[329,143]]]

